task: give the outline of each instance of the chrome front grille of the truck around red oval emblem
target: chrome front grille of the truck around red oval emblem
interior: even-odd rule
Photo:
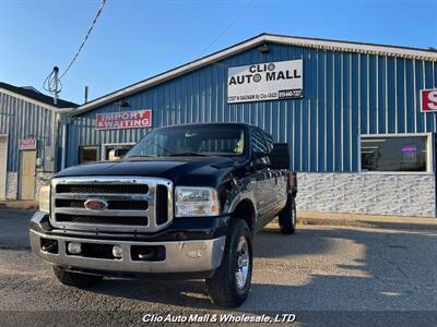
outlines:
[[[52,180],[54,227],[71,230],[155,232],[173,220],[173,183],[157,178]],[[104,206],[90,208],[87,201]]]

